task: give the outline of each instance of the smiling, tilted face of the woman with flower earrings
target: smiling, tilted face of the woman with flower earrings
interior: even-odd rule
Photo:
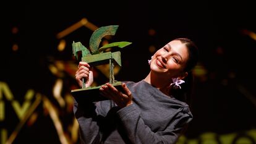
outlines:
[[[182,77],[189,57],[187,46],[179,40],[174,40],[156,51],[150,63],[153,72],[165,77]]]

